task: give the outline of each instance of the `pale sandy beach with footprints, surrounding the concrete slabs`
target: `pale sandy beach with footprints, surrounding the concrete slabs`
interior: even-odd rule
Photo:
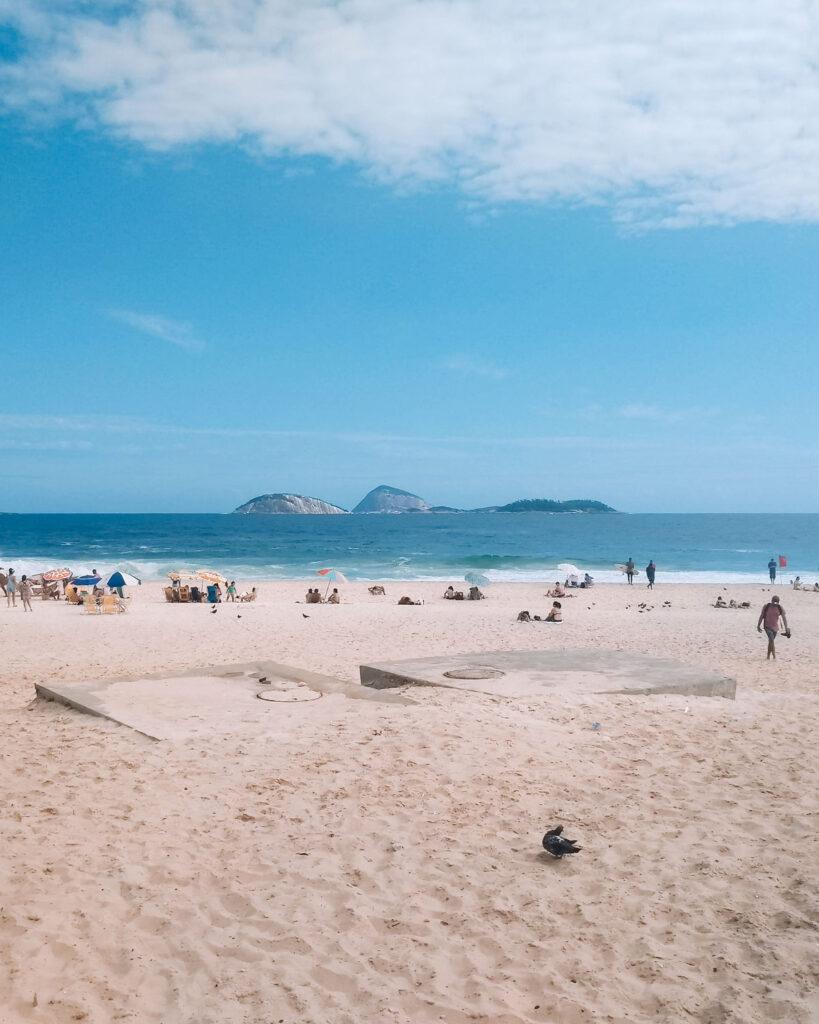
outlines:
[[[554,626],[515,621],[542,586],[385,586],[305,607],[306,584],[262,584],[216,615],[157,584],[119,616],[0,604],[3,1024],[819,1019],[819,594],[777,591],[793,637],[767,664],[763,586],[600,586]],[[179,743],[33,700],[257,657],[354,682],[590,646],[707,666],[737,699],[333,695],[277,708],[273,739]],[[576,857],[542,853],[557,822]]]

